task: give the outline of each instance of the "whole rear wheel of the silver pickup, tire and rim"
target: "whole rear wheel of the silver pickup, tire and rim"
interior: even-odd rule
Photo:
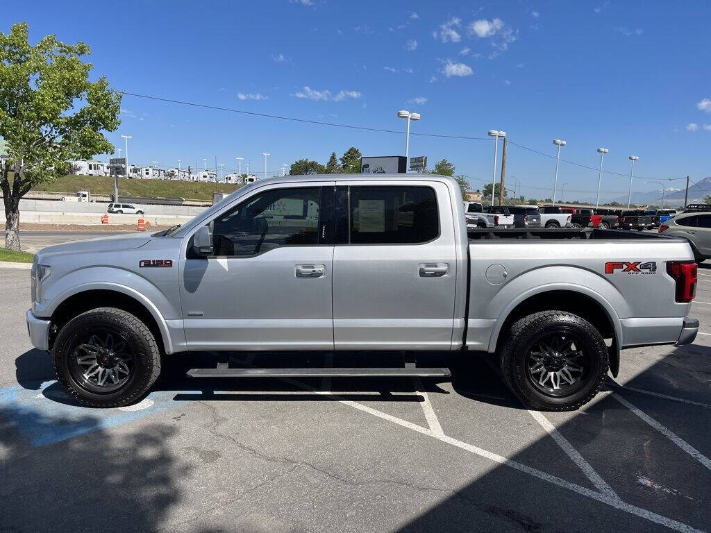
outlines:
[[[508,387],[528,407],[569,411],[602,387],[608,352],[588,321],[564,311],[540,311],[511,326],[501,352]]]

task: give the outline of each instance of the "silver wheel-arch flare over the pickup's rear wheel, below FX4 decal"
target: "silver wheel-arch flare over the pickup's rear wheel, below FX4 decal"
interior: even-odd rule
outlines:
[[[547,282],[555,279],[557,281]],[[620,316],[629,316],[624,296],[609,281],[585,269],[570,266],[549,266],[528,271],[512,279],[488,303],[488,309],[496,316],[496,324],[491,330],[488,352],[495,352],[498,337],[506,318],[525,300],[537,294],[550,291],[571,291],[592,298],[604,308],[615,332],[617,345],[622,342]],[[498,310],[498,313],[496,312]]]

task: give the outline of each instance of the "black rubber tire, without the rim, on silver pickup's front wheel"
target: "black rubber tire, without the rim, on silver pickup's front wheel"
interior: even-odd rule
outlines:
[[[129,380],[121,388],[98,394],[77,383],[68,361],[73,357],[70,350],[79,335],[102,326],[118,330],[129,340],[135,361]],[[60,329],[52,363],[58,381],[77,402],[87,407],[122,407],[137,402],[149,391],[161,372],[161,353],[153,333],[139,318],[122,309],[101,307],[76,316]]]

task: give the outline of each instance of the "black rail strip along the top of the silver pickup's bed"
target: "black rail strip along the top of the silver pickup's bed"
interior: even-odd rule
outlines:
[[[597,230],[595,228],[584,229],[511,229],[501,228],[468,228],[467,237],[469,241],[496,240],[496,239],[518,239],[518,240],[562,240],[562,239],[664,239],[664,235],[651,233],[632,233],[620,230]]]

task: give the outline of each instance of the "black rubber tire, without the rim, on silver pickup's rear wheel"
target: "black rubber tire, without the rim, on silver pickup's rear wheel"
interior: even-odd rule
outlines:
[[[553,328],[565,327],[581,339],[583,350],[589,350],[597,367],[588,369],[584,385],[570,396],[551,397],[530,383],[526,360],[535,339]],[[504,332],[506,341],[501,350],[501,372],[509,389],[525,404],[538,411],[573,411],[587,404],[599,392],[605,381],[609,355],[602,335],[588,321],[565,311],[540,311],[516,321]]]

